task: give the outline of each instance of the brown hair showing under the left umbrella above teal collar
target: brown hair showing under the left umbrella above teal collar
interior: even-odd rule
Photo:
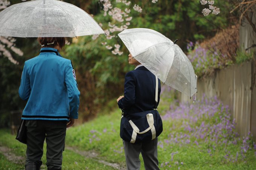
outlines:
[[[59,45],[59,47],[62,48],[65,46],[65,43],[66,43],[65,37],[38,37],[37,40],[41,45],[41,48],[44,48],[44,47],[54,48],[56,45]],[[54,42],[54,44],[50,44],[52,42]]]

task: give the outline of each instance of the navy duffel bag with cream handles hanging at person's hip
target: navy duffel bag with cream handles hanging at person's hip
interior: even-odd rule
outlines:
[[[158,137],[163,123],[157,110],[149,110],[121,117],[120,137],[130,143],[141,143]]]

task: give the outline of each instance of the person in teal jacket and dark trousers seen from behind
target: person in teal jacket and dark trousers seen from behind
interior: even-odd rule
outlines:
[[[79,95],[71,60],[59,51],[66,39],[38,38],[40,54],[24,64],[19,95],[27,100],[21,119],[26,120],[26,170],[40,170],[43,144],[47,143],[48,170],[61,170],[66,128],[78,119]]]

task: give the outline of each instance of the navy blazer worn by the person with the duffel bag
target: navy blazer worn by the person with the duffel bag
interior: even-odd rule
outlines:
[[[160,80],[158,79],[158,103],[160,101]],[[118,101],[124,116],[155,108],[155,75],[144,66],[126,73],[124,98]]]

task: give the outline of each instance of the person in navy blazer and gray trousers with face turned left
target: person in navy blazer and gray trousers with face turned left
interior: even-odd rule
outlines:
[[[124,84],[124,96],[117,99],[124,116],[143,111],[153,110],[160,101],[160,80],[158,79],[158,103],[155,103],[155,75],[140,64],[131,54],[128,62],[135,65],[133,71],[126,73]],[[125,150],[126,166],[128,170],[139,170],[142,153],[145,170],[158,170],[157,141],[155,138],[143,143],[130,143],[123,140]]]

